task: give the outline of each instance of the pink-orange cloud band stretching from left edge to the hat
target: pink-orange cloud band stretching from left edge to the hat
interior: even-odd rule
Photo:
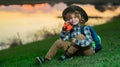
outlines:
[[[26,13],[33,13],[36,11],[41,11],[41,12],[51,12],[52,10],[63,10],[66,8],[66,4],[64,3],[57,3],[53,5],[53,7],[48,4],[48,3],[43,3],[43,4],[23,4],[23,5],[8,5],[0,6],[0,11],[16,11],[16,12],[26,12]]]

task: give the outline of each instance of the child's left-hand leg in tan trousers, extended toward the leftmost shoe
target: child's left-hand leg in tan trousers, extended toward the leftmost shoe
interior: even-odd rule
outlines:
[[[51,60],[51,58],[56,54],[58,49],[61,48],[66,51],[69,48],[70,44],[71,43],[68,41],[63,41],[61,39],[56,40],[55,43],[49,49],[48,53],[46,54],[45,59]]]

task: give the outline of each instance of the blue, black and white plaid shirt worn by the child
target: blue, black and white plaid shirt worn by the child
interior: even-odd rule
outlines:
[[[75,38],[78,34],[81,34],[81,30],[80,30],[80,24],[75,25],[72,29],[72,31],[65,31],[64,29],[62,29],[61,34],[60,34],[60,38],[64,41],[67,41],[69,39]],[[91,32],[89,30],[88,26],[84,27],[84,35],[86,37],[85,40],[76,40],[75,44],[79,45],[81,47],[86,47],[86,46],[90,46],[93,39],[91,36]]]

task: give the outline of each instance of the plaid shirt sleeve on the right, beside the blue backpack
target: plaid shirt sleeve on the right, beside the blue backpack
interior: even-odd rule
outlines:
[[[86,39],[85,40],[76,40],[75,41],[76,45],[81,46],[81,47],[86,47],[86,46],[91,45],[93,39],[92,39],[91,32],[90,32],[90,29],[88,26],[84,27],[84,35],[85,35]]]

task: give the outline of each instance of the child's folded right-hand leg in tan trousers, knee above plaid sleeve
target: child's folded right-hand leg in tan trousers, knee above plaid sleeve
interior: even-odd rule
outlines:
[[[85,36],[82,34],[79,34],[76,39],[79,40],[84,40]],[[93,55],[94,54],[94,50],[92,47],[88,46],[88,47],[80,47],[77,46],[73,43],[72,46],[70,46],[70,48],[67,50],[66,55],[68,55],[69,57],[71,57],[72,55],[75,54],[81,54],[81,55]]]

